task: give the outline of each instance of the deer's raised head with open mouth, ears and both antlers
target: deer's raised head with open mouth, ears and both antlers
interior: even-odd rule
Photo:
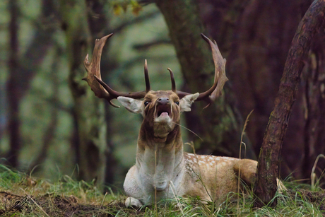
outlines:
[[[143,115],[143,127],[155,137],[165,138],[167,134],[173,131],[175,124],[179,124],[180,113],[190,111],[194,100],[205,100],[210,104],[221,94],[225,81],[228,81],[228,78],[225,76],[225,59],[221,56],[218,46],[211,42],[208,37],[202,35],[203,39],[211,46],[215,63],[214,83],[209,90],[194,94],[176,90],[174,75],[171,69],[168,69],[168,71],[170,71],[172,89],[150,90],[147,62],[145,61],[144,76],[146,90],[134,93],[119,93],[107,86],[100,76],[102,47],[104,47],[107,38],[111,36],[112,34],[96,40],[93,59],[90,63],[88,62],[88,55],[85,57],[84,64],[88,74],[83,80],[88,82],[98,98],[107,99],[110,105],[118,107],[111,102],[112,99],[117,99],[130,112],[141,113]]]

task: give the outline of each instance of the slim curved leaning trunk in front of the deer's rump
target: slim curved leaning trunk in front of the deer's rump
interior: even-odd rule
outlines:
[[[325,26],[325,1],[316,0],[300,21],[289,50],[288,59],[280,81],[275,107],[266,127],[261,146],[254,187],[254,206],[265,204],[276,206],[276,177],[278,176],[279,154],[295,101],[297,85],[314,35]],[[272,201],[272,202],[271,202]],[[269,204],[271,202],[271,204]]]

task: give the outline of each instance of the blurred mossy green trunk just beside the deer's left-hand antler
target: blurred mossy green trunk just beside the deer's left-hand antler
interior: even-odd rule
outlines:
[[[93,42],[87,20],[85,1],[60,1],[62,28],[66,32],[69,61],[69,86],[74,100],[73,112],[78,126],[77,163],[80,179],[96,180],[101,186],[105,178],[106,123],[104,102],[95,98],[85,81],[83,59]]]

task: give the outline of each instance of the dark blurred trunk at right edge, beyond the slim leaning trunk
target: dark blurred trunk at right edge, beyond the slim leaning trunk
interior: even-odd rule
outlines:
[[[312,40],[307,67],[302,74],[305,105],[305,158],[302,164],[305,179],[312,175],[312,166],[319,154],[325,153],[325,33],[320,31]],[[315,174],[321,177],[324,158],[317,163]]]

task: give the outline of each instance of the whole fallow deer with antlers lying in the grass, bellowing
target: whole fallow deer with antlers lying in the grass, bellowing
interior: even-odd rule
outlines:
[[[204,93],[184,93],[176,90],[172,80],[171,90],[150,90],[147,63],[144,75],[146,90],[135,93],[119,93],[101,80],[100,58],[102,47],[112,34],[96,40],[91,63],[85,57],[88,82],[98,98],[117,99],[130,112],[143,116],[136,165],[126,174],[124,190],[129,196],[126,206],[153,204],[161,199],[180,197],[199,197],[202,201],[225,200],[229,192],[237,192],[238,182],[254,183],[257,162],[249,159],[194,155],[183,152],[183,141],[179,129],[181,112],[189,112],[194,100],[211,103],[221,94],[228,78],[225,76],[225,59],[218,46],[208,37],[203,39],[211,46],[215,64],[213,86]],[[143,100],[139,100],[142,99]]]

